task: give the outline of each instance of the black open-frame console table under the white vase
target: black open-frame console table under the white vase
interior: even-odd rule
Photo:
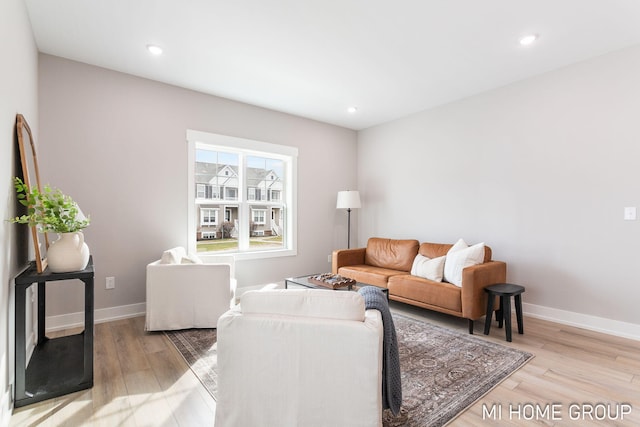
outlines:
[[[16,283],[16,390],[15,407],[29,405],[93,387],[93,259],[82,271],[38,273],[35,263],[15,278]],[[45,335],[46,283],[78,279],[84,282],[84,331],[47,338]],[[38,284],[38,341],[27,366],[25,309],[27,289]]]

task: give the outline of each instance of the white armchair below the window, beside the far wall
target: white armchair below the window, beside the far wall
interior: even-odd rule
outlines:
[[[145,330],[215,328],[234,305],[233,257],[202,263],[184,248],[165,251],[147,265]]]

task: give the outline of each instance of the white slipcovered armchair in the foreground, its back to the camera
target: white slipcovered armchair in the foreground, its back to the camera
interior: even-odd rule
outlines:
[[[216,427],[382,425],[382,339],[356,292],[246,292],[218,321]]]

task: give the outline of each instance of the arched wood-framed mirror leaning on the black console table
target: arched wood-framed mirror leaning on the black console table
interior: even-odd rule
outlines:
[[[41,191],[36,146],[31,134],[31,128],[22,114],[18,114],[16,117],[16,133],[18,135],[18,147],[20,148],[23,182],[29,189],[36,187],[38,191]],[[31,227],[31,235],[33,237],[36,267],[38,272],[42,273],[47,268],[49,240],[46,233],[41,233],[38,227],[35,226]]]

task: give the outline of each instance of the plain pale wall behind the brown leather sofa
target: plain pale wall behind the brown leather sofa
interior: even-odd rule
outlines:
[[[531,309],[640,338],[639,76],[636,46],[360,132],[360,243],[484,241]]]

